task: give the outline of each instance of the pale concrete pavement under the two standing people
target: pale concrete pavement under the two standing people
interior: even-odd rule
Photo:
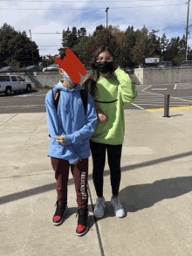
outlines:
[[[77,203],[72,174],[63,225],[51,218],[57,198],[48,157],[46,113],[0,114],[0,255],[192,255],[192,110],[125,110],[120,200],[114,216],[106,158],[106,214],[94,222],[92,157],[89,158],[89,232],[75,234]],[[91,196],[91,197],[90,197]],[[93,204],[92,204],[93,202]]]

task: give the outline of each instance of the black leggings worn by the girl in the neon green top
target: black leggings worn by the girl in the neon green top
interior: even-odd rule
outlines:
[[[98,197],[103,197],[103,172],[106,164],[106,149],[108,165],[111,173],[113,196],[118,196],[120,190],[120,157],[122,144],[108,145],[90,141],[93,157],[93,183]]]

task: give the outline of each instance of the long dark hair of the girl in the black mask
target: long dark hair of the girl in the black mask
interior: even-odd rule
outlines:
[[[91,65],[91,74],[88,76],[88,78],[82,84],[82,86],[86,89],[86,91],[89,92],[92,96],[96,95],[96,91],[98,93],[96,84],[97,84],[97,80],[99,79],[99,71],[97,69],[97,66],[95,66],[95,62],[96,62],[99,54],[101,52],[105,52],[105,51],[109,52],[112,55],[113,62],[114,62],[114,54],[113,54],[112,50],[108,46],[101,45],[98,48],[98,50],[96,52],[94,52],[94,54],[93,54],[93,59],[90,63],[90,65]],[[110,72],[110,73],[112,74],[112,72]],[[91,91],[88,90],[89,82],[91,82]]]

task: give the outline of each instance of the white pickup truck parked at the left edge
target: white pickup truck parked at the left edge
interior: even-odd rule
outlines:
[[[18,75],[0,75],[0,93],[9,96],[11,92],[17,93],[17,91],[31,92],[31,83]]]

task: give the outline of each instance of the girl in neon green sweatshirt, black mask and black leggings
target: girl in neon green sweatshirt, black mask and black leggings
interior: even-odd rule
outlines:
[[[103,197],[103,172],[106,149],[111,173],[114,214],[124,217],[125,211],[118,197],[120,189],[120,157],[125,135],[124,108],[137,96],[136,87],[127,73],[114,63],[107,46],[100,46],[93,56],[91,74],[82,85],[93,97],[98,114],[97,127],[90,140],[93,156],[93,183],[97,193],[94,215],[102,218],[106,208]]]

